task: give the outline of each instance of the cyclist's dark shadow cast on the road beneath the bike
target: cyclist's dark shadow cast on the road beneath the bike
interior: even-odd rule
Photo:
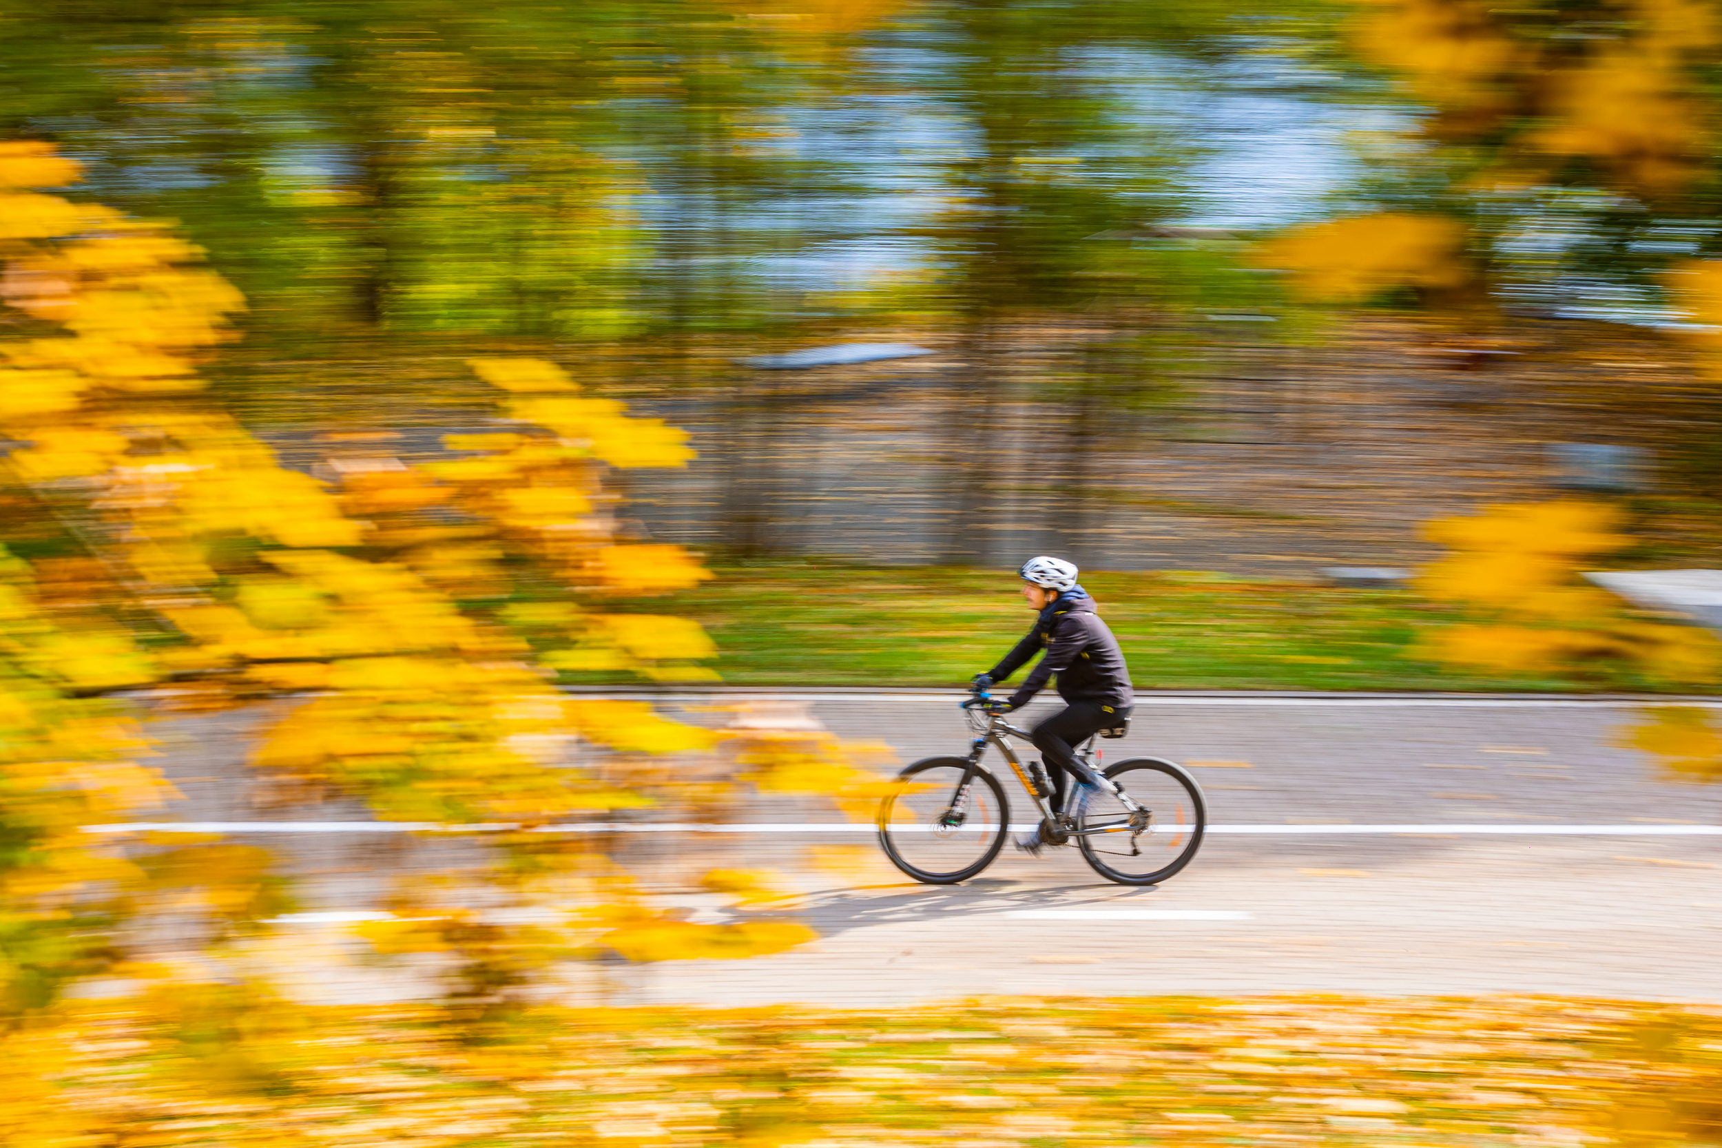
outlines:
[[[1021,886],[1021,888],[1018,888]],[[976,878],[963,885],[875,885],[821,890],[785,907],[823,936],[875,924],[957,921],[997,917],[1018,909],[1081,909],[1140,902],[1155,886],[1126,886],[1095,881],[1030,885],[1004,878]]]

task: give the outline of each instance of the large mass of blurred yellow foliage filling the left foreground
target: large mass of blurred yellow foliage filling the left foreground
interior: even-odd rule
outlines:
[[[563,695],[548,682],[551,659],[515,632],[532,625],[456,596],[494,602],[522,571],[539,587],[560,578],[570,601],[551,606],[563,608],[567,637],[615,652],[629,673],[709,673],[692,664],[715,654],[696,625],[589,621],[572,601],[579,590],[653,594],[709,577],[678,547],[616,546],[604,491],[611,466],[684,465],[687,435],[573,394],[544,360],[484,358],[472,367],[503,392],[498,413],[530,425],[451,435],[448,447],[470,456],[441,463],[367,454],[331,458],[317,470],[331,477],[288,468],[191,394],[203,386],[196,356],[234,337],[229,317],[243,298],[165,225],[28,191],[76,170],[46,145],[0,145],[0,299],[29,320],[26,337],[0,339],[0,430],[28,442],[5,477],[76,523],[112,616],[148,618],[157,637],[170,626],[177,644],[145,656],[98,613],[59,628],[34,606],[28,565],[0,554],[0,835],[28,847],[0,857],[0,888],[19,923],[9,919],[9,945],[36,945],[0,960],[3,1009],[45,1007],[60,983],[103,967],[108,938],[65,905],[102,907],[91,890],[115,881],[129,888],[126,910],[189,912],[226,938],[203,967],[133,969],[186,990],[193,1012],[227,991],[219,979],[241,967],[239,933],[257,940],[255,952],[276,943],[265,917],[288,902],[262,850],[196,842],[143,854],[138,876],[103,835],[83,831],[170,793],[129,762],[143,749],[129,726],[105,702],[71,694],[164,673],[188,678],[176,697],[310,692],[258,738],[253,764],[282,793],[341,795],[377,818],[491,835],[506,864],[460,881],[494,914],[460,897],[400,897],[420,904],[424,919],[398,914],[394,924],[456,955],[451,997],[525,984],[554,960],[592,952],[598,933],[661,923],[606,869],[598,838],[527,830],[649,805],[653,793],[606,780],[606,762],[704,752],[716,737],[642,704]],[[601,881],[591,876],[599,871]],[[611,924],[565,923],[579,907],[570,897],[610,904]],[[734,957],[806,936],[751,923],[623,945],[654,960],[675,947]],[[267,995],[239,997],[248,1017],[286,1015]]]

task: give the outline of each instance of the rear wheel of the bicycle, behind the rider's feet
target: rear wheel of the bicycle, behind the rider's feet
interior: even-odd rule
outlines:
[[[1112,793],[1095,793],[1076,828],[1106,831],[1076,838],[1083,861],[1119,885],[1157,885],[1190,864],[1207,828],[1207,802],[1195,778],[1159,757],[1121,761],[1106,776],[1147,816],[1131,816]]]

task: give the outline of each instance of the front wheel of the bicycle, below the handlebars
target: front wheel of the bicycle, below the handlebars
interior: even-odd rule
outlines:
[[[969,773],[963,757],[914,762],[878,805],[878,843],[890,864],[926,885],[956,885],[990,866],[1009,824],[999,778]]]

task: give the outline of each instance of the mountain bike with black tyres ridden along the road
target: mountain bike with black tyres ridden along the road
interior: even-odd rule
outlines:
[[[999,778],[982,761],[999,747],[1040,812],[1047,845],[1075,843],[1083,861],[1107,881],[1157,885],[1176,874],[1202,847],[1207,802],[1202,787],[1181,766],[1159,757],[1131,757],[1102,768],[1095,738],[1076,749],[1076,759],[1100,776],[1100,792],[1081,816],[1052,805],[1052,785],[1037,764],[1023,764],[1011,747],[1026,738],[1004,719],[1002,707],[985,690],[963,702],[975,740],[968,757],[926,757],[897,775],[878,807],[878,843],[890,862],[916,881],[956,885],[976,876],[1004,849],[1013,826],[1011,805]],[[1123,737],[1124,728],[1100,737]]]

